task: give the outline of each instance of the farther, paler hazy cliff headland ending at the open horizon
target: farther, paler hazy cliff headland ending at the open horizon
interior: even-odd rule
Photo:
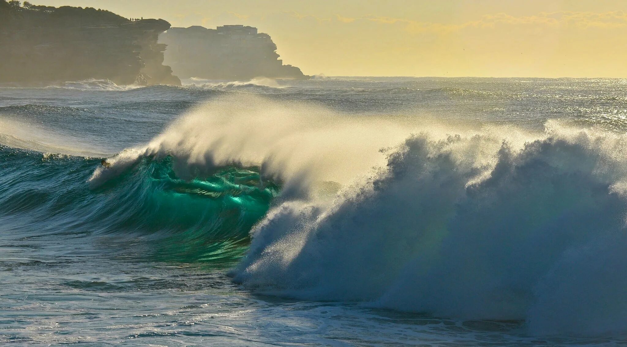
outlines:
[[[170,28],[159,41],[168,45],[166,63],[181,78],[309,78],[299,68],[283,65],[270,35],[251,26]]]

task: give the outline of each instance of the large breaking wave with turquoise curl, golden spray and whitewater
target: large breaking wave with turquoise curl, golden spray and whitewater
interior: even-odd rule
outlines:
[[[65,179],[99,196],[78,225],[185,235],[168,240],[193,259],[250,240],[231,275],[263,294],[627,331],[627,136],[364,117],[227,95],[105,166],[58,160],[88,166]],[[0,210],[41,193],[3,189]]]

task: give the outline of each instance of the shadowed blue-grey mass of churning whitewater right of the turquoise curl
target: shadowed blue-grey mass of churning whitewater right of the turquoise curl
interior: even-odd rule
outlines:
[[[561,129],[522,149],[497,141],[412,136],[329,207],[278,206],[253,230],[235,280],[292,297],[527,319],[540,334],[624,331],[627,166],[613,152],[624,137]]]

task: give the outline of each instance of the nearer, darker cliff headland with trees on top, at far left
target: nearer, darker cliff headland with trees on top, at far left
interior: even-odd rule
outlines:
[[[108,79],[118,84],[181,81],[162,65],[163,19],[130,21],[109,11],[19,7],[0,0],[0,82]]]

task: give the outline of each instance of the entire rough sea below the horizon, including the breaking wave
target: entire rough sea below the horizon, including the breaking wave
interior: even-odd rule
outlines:
[[[627,345],[627,80],[0,86],[0,344]]]

